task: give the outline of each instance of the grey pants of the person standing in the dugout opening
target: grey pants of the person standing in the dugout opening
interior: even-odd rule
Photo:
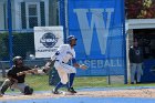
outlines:
[[[131,63],[131,82],[135,81],[135,74],[137,82],[141,82],[141,75],[143,75],[142,63]]]

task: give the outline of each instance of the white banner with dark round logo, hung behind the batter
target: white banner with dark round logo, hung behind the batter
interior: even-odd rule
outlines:
[[[63,44],[63,27],[34,27],[35,58],[51,58]]]

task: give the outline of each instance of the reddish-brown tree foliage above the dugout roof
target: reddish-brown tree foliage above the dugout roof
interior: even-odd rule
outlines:
[[[126,0],[125,7],[128,19],[155,18],[155,1],[153,0]]]

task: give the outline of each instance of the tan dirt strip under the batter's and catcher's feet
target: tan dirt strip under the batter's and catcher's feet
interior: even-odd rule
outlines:
[[[108,91],[79,91],[76,94],[52,94],[52,93],[34,93],[33,95],[6,94],[0,97],[4,100],[32,100],[48,97],[155,97],[155,89],[134,89],[134,90],[108,90]]]

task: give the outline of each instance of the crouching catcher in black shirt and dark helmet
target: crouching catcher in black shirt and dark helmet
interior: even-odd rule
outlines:
[[[24,95],[30,95],[33,93],[33,89],[24,83],[27,73],[37,73],[37,69],[30,69],[23,65],[23,60],[21,56],[13,58],[13,66],[7,73],[7,80],[0,87],[0,96],[4,94],[8,87],[18,89]]]

